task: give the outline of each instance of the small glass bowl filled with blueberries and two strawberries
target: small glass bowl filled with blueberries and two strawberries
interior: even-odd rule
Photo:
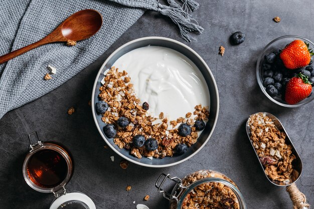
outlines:
[[[270,42],[260,54],[256,77],[262,92],[274,103],[299,107],[314,99],[314,44],[299,36]]]

